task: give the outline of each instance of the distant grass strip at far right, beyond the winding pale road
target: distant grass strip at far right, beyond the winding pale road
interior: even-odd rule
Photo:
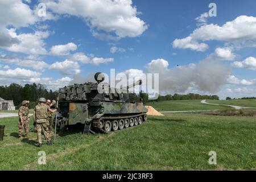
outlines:
[[[256,107],[256,99],[221,100],[221,101],[207,100],[207,102],[212,104],[225,104],[225,105],[235,105],[235,106],[242,106],[242,107]]]

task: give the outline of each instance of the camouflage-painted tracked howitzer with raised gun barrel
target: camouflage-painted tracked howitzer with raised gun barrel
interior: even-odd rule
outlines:
[[[96,73],[95,82],[74,84],[59,89],[57,126],[67,130],[81,123],[84,133],[109,133],[147,121],[147,109],[142,102],[129,102],[127,89],[141,85],[139,80],[125,89],[110,88],[104,76]]]

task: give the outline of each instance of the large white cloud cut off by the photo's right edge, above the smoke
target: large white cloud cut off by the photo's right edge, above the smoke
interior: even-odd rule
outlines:
[[[199,41],[209,40],[224,41],[236,46],[252,46],[256,40],[256,18],[254,16],[238,16],[231,22],[222,26],[207,24],[196,28],[187,38],[175,39],[174,48],[190,48],[196,51],[205,51],[208,46]],[[201,45],[201,46],[198,46]],[[199,48],[203,47],[203,48]]]

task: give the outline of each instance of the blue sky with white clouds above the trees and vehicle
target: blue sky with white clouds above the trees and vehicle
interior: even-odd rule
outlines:
[[[216,17],[205,15],[211,2]],[[164,94],[253,97],[255,7],[253,0],[1,1],[0,85],[37,82],[54,90],[114,68],[159,73]]]

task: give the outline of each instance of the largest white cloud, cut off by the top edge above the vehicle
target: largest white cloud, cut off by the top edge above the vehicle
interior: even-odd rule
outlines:
[[[62,0],[58,2],[41,0],[41,2],[46,3],[47,8],[54,13],[84,18],[96,36],[102,36],[97,31],[103,30],[107,32],[103,36],[112,36],[110,33],[113,32],[117,38],[136,37],[148,28],[147,24],[137,17],[137,8],[132,5],[131,0]]]

